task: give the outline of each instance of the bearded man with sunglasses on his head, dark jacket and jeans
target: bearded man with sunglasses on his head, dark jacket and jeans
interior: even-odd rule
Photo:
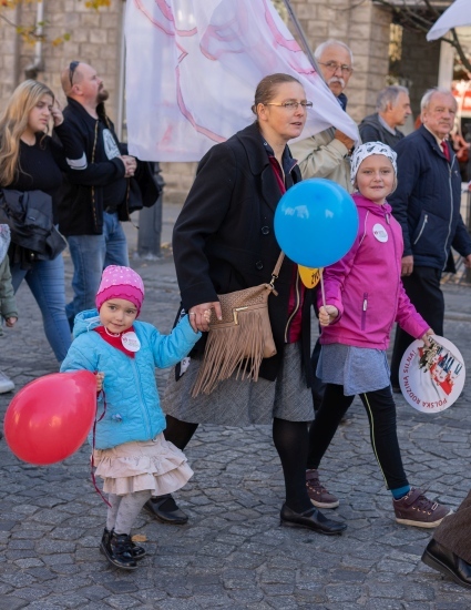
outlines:
[[[59,228],[65,235],[74,265],[74,298],[66,306],[75,315],[93,308],[102,271],[107,265],[129,266],[126,237],[120,221],[129,220],[127,179],[137,162],[125,154],[107,119],[103,102],[109,93],[96,71],[72,61],[61,75],[68,96],[64,121],[83,145],[83,156],[69,162],[72,175],[59,203]]]

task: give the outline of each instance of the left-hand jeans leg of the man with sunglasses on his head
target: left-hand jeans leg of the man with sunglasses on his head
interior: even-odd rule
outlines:
[[[104,235],[69,235],[73,263],[73,299],[65,307],[70,327],[80,312],[94,309],[106,253]]]

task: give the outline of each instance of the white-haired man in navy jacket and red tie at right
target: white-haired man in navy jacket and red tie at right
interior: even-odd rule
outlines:
[[[461,177],[448,135],[457,102],[447,89],[431,89],[421,101],[422,125],[401,140],[398,187],[388,197],[402,226],[402,282],[409,298],[437,335],[443,335],[441,273],[450,248],[471,266],[471,238],[460,214]],[[391,384],[399,390],[399,365],[413,337],[396,332]]]

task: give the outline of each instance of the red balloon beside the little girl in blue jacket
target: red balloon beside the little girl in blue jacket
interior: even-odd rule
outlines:
[[[23,461],[61,461],[83,444],[96,413],[96,378],[89,370],[54,373],[27,384],[10,403],[4,438]]]

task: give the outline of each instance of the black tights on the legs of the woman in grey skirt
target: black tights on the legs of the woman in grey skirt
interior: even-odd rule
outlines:
[[[195,434],[198,424],[182,421],[171,415],[166,416],[166,421],[165,439],[183,451]],[[306,490],[306,468],[304,466],[309,445],[307,421],[287,421],[275,417],[273,440],[281,460],[286,505],[296,512],[311,509],[313,505]]]

